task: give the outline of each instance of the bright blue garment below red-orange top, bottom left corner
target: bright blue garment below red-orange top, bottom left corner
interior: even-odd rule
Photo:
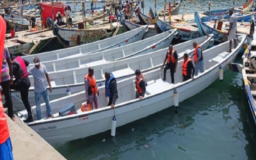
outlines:
[[[0,144],[0,160],[13,160],[10,137],[3,144]]]

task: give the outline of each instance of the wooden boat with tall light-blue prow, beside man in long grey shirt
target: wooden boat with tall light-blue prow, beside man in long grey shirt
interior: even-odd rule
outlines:
[[[199,30],[202,30],[205,34],[214,34],[214,40],[216,42],[224,42],[228,39],[228,31],[217,30],[206,25],[201,21],[197,12],[195,12],[195,20]]]

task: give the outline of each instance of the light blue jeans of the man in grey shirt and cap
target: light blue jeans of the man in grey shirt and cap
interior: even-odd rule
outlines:
[[[51,107],[50,107],[50,101],[49,101],[49,96],[48,96],[48,91],[47,89],[44,90],[41,93],[36,93],[35,92],[35,103],[36,103],[36,113],[37,113],[37,119],[41,119],[41,95],[44,98],[44,102],[46,104],[46,110],[47,110],[47,115],[51,115]]]

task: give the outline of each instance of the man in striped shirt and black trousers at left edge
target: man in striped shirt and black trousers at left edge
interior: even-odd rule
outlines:
[[[14,121],[15,116],[13,113],[12,97],[10,85],[13,83],[12,77],[12,62],[10,53],[7,48],[4,47],[2,70],[1,70],[1,86],[3,88],[5,104],[8,108],[8,116]]]

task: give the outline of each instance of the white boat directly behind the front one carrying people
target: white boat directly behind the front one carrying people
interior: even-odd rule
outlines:
[[[213,36],[213,35],[212,35]],[[207,47],[213,43],[212,36],[203,36],[191,41],[187,41],[184,43],[180,43],[174,46],[174,49],[177,51],[180,59],[182,59],[184,51],[189,55],[192,55],[194,52],[194,48],[192,43],[195,41],[203,50],[207,49]],[[160,68],[160,65],[163,63],[163,60],[166,56],[166,51],[168,48],[160,49],[154,52],[150,52],[147,54],[142,54],[143,56],[139,59],[138,56],[133,56],[127,59],[118,60],[114,62],[109,62],[101,65],[100,63],[90,65],[90,67],[94,68],[94,75],[97,79],[97,86],[101,86],[104,84],[104,72],[106,70],[112,71],[115,74],[116,80],[121,80],[123,78],[129,77],[134,74],[137,68],[141,69],[142,72]],[[116,56],[122,57],[123,53],[117,53]],[[93,57],[92,57],[93,58]],[[151,60],[150,60],[151,59]],[[62,70],[57,72],[49,72],[49,76],[51,77],[52,84],[52,93],[49,94],[50,100],[60,98],[66,95],[66,90],[69,88],[71,93],[77,93],[84,90],[84,76],[88,71],[88,66],[85,64],[80,68]],[[29,89],[29,102],[31,105],[34,105],[34,90],[33,90],[33,82],[34,79],[30,76],[30,82],[32,87]],[[17,91],[12,91],[12,94],[16,97],[20,97],[20,93]],[[24,106],[20,103],[19,100],[13,98],[13,105],[16,109],[23,109]]]

